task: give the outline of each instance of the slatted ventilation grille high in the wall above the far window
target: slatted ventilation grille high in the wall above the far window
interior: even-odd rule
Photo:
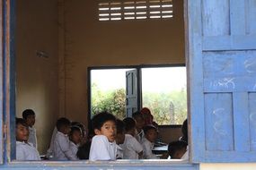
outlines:
[[[99,4],[99,21],[168,19],[172,7],[172,0],[104,2]]]

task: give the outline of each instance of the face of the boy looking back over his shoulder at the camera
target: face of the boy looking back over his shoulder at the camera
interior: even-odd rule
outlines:
[[[110,142],[113,142],[116,138],[116,123],[113,121],[107,121],[103,123],[101,130],[95,129],[96,134],[102,134],[108,138]]]

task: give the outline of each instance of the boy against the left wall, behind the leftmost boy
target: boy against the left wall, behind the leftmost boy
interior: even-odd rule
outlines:
[[[35,112],[32,109],[26,109],[22,112],[22,117],[29,126],[30,136],[28,142],[32,143],[32,145],[38,149],[38,142],[37,142],[37,134],[36,129],[34,128],[34,124],[36,121]]]

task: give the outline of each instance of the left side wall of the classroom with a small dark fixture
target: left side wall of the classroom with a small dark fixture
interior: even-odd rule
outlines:
[[[36,112],[40,153],[49,146],[58,114],[57,0],[16,1],[16,115]],[[49,54],[40,58],[37,50]]]

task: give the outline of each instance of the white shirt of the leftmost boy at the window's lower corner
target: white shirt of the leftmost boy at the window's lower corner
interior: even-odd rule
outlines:
[[[16,160],[40,160],[40,154],[31,143],[16,141]]]

